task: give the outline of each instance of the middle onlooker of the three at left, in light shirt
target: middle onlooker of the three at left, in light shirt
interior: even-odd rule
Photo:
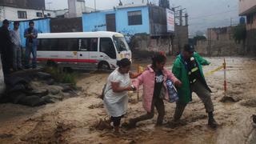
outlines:
[[[13,43],[13,69],[22,70],[22,41],[18,31],[19,22],[14,22],[14,30],[10,31],[11,42]]]

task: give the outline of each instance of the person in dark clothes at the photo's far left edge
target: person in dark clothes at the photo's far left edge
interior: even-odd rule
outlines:
[[[0,28],[0,52],[2,59],[2,69],[3,73],[10,74],[10,70],[12,67],[13,60],[13,50],[12,50],[12,42],[10,38],[10,32],[8,30],[9,21],[5,19],[2,22],[2,26]]]

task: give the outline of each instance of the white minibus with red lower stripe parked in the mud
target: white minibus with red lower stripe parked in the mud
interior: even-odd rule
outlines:
[[[131,51],[122,34],[106,31],[38,34],[38,61],[70,68],[114,69]]]

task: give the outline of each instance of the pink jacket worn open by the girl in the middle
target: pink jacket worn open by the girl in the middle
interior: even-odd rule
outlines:
[[[174,76],[172,72],[170,72],[170,70],[167,70],[166,68],[162,70],[162,73],[164,75],[163,87],[166,90],[165,99],[168,100],[169,96],[167,93],[166,79],[170,78],[172,82],[176,82],[178,81],[178,79]],[[150,66],[148,66],[147,69],[140,76],[138,76],[138,78],[133,80],[133,85],[136,87],[137,90],[139,86],[143,84],[142,104],[147,112],[151,111],[151,104],[154,94],[154,82],[155,73]]]

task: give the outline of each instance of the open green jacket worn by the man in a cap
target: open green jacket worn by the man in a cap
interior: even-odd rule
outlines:
[[[193,57],[198,63],[198,68],[200,70],[200,74],[202,77],[201,80],[203,85],[206,86],[206,89],[211,92],[209,86],[207,86],[206,84],[206,79],[204,78],[204,75],[202,72],[202,66],[209,65],[210,62],[207,62],[206,59],[202,58],[198,53],[195,53],[195,52]],[[191,102],[192,91],[190,90],[189,76],[188,76],[188,72],[186,70],[186,66],[181,54],[179,54],[175,59],[172,72],[175,75],[175,77],[182,82],[182,87],[177,88],[178,98],[179,98],[178,102],[181,102],[184,104]]]

